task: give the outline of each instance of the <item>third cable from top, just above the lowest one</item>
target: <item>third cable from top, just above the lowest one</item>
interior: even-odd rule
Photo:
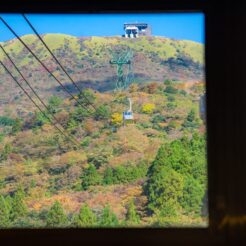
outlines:
[[[9,56],[9,54],[6,52],[6,50],[3,48],[3,46],[0,44],[0,48],[2,49],[2,51],[4,52],[4,54],[7,56],[7,58],[10,60],[10,62],[12,63],[12,65],[14,66],[14,68],[17,70],[17,72],[20,74],[21,78],[26,82],[26,84],[28,85],[28,87],[30,88],[30,90],[34,93],[34,95],[38,98],[38,100],[41,102],[41,104],[46,108],[46,110],[50,113],[51,117],[55,120],[56,124],[60,124],[59,120],[56,118],[56,116],[52,113],[52,111],[49,109],[49,107],[45,104],[45,102],[40,98],[40,96],[37,94],[37,92],[33,89],[33,87],[31,86],[31,84],[27,81],[27,79],[24,77],[24,75],[22,74],[22,72],[20,71],[20,69],[16,66],[16,64],[14,63],[14,61],[12,60],[12,58]],[[63,127],[62,127],[63,128]],[[66,132],[66,130],[63,128],[63,131]],[[68,132],[66,132],[66,134],[69,136],[70,134]],[[71,135],[70,138],[74,139]],[[76,141],[74,139],[74,141]],[[76,141],[77,142],[77,141]],[[79,144],[79,143],[77,143]]]

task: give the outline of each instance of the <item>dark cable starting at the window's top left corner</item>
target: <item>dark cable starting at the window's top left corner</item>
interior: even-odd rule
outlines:
[[[26,49],[35,57],[35,59],[44,67],[44,69],[59,83],[59,85],[66,91],[81,107],[83,107],[88,113],[91,113],[90,110],[80,103],[74,95],[69,92],[69,90],[60,82],[59,79],[47,68],[47,66],[33,53],[33,51],[26,45],[26,43],[18,36],[18,34],[9,26],[9,24],[0,16],[0,20],[3,24],[15,35],[15,37],[26,47]]]

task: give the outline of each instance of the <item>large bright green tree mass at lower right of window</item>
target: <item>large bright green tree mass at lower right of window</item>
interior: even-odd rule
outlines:
[[[199,213],[206,186],[205,139],[193,134],[162,145],[148,170],[145,185],[151,212],[175,214],[181,205]]]

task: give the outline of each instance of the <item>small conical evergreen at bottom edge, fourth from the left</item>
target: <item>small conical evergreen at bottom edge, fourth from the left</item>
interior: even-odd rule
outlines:
[[[91,211],[87,204],[84,204],[79,214],[73,218],[73,225],[76,227],[93,227],[97,223],[96,215]]]

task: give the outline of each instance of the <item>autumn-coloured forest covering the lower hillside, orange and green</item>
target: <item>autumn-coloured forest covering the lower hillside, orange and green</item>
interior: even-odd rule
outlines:
[[[147,78],[123,91],[85,88],[76,100],[47,93],[45,114],[75,141],[10,97],[0,116],[0,227],[206,226],[203,93],[201,80]],[[129,97],[134,120],[123,122]]]

